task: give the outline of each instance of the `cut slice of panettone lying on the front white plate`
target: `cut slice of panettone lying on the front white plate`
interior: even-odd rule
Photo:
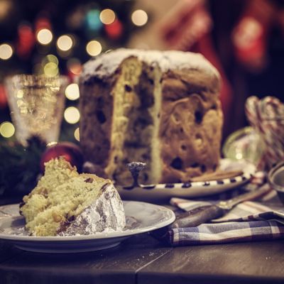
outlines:
[[[38,185],[23,197],[20,213],[34,236],[121,231],[124,207],[110,180],[79,174],[63,158],[45,163]]]

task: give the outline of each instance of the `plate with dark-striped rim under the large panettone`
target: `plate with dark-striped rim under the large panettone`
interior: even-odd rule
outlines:
[[[141,187],[116,186],[116,189],[119,191],[119,195],[123,200],[143,200],[152,202],[169,200],[171,197],[190,198],[215,195],[245,185],[251,180],[253,173],[256,172],[256,167],[245,160],[222,159],[220,170],[242,170],[243,174],[234,178],[209,180],[206,182],[142,185]]]

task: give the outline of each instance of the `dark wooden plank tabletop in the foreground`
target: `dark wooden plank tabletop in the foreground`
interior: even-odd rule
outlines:
[[[284,283],[284,241],[172,248],[148,234],[89,253],[31,253],[0,241],[4,283]]]

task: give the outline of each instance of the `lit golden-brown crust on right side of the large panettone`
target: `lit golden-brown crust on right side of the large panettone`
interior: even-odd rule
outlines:
[[[162,86],[161,182],[186,182],[213,172],[219,165],[223,121],[219,78],[175,70],[164,75]]]

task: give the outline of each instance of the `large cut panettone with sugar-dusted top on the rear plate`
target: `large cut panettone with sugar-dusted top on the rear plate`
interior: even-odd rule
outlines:
[[[80,143],[95,172],[131,182],[185,182],[219,165],[220,77],[200,54],[119,49],[84,65]],[[102,173],[101,169],[104,170]]]

